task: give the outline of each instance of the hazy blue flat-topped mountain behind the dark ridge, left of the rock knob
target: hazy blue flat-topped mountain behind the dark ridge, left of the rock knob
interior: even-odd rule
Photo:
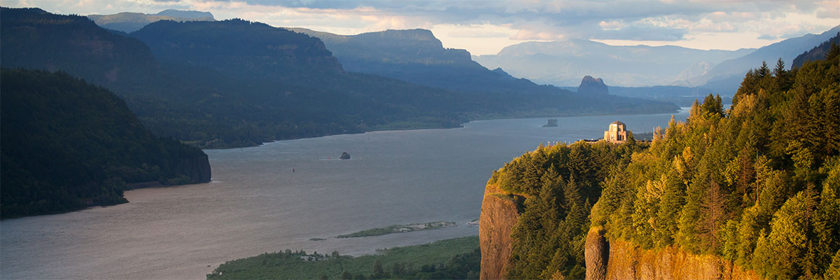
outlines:
[[[470,58],[470,52],[446,49],[427,29],[386,30],[339,35],[290,28],[323,40],[347,71],[392,77],[428,87],[460,92],[569,93],[491,71]]]

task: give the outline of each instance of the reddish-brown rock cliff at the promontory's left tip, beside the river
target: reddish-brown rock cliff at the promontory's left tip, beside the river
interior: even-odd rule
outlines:
[[[481,279],[502,279],[511,262],[513,226],[519,219],[522,197],[503,192],[496,183],[488,183],[481,201],[479,240]]]

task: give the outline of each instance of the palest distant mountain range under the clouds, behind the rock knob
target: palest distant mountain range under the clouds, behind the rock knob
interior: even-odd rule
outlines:
[[[501,67],[513,76],[557,86],[574,86],[585,75],[603,77],[607,84],[621,87],[693,86],[686,81],[701,77],[721,61],[751,51],[563,40],[509,45],[496,55],[478,55],[474,59],[483,66]]]

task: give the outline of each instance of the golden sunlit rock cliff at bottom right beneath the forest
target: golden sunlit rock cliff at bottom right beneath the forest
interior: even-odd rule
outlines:
[[[717,256],[694,255],[673,246],[645,250],[626,240],[607,240],[605,233],[593,229],[586,238],[587,280],[761,279]]]

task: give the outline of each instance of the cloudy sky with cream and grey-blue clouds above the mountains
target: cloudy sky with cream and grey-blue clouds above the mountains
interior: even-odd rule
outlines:
[[[50,13],[157,13],[168,8],[334,34],[430,29],[445,47],[491,55],[526,41],[758,48],[840,24],[840,0],[0,0]]]

